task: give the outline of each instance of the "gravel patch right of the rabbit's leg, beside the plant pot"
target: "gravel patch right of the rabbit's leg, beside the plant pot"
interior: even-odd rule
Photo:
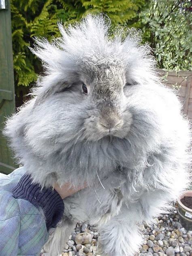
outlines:
[[[151,228],[142,229],[145,243],[139,256],[192,256],[192,231],[182,228],[177,210],[156,219]]]

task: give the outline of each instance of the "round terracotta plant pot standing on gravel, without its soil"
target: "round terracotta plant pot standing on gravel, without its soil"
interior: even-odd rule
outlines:
[[[192,190],[186,190],[180,198],[178,198],[178,214],[181,225],[186,230],[192,230],[192,209],[186,207],[181,203],[184,196],[192,196]]]

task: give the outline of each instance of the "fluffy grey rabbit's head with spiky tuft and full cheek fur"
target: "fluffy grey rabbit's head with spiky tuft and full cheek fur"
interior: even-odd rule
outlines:
[[[181,121],[180,105],[160,84],[138,33],[125,36],[119,29],[109,38],[102,16],[59,28],[62,37],[52,43],[36,39],[32,52],[45,75],[6,128],[17,157],[37,181],[53,171],[60,179],[63,169],[69,175],[119,162],[132,168],[145,164],[167,139],[179,143],[173,127]]]

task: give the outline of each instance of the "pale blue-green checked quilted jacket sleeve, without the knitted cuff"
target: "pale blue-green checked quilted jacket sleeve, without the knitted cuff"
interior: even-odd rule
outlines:
[[[0,256],[38,255],[48,238],[43,211],[13,197],[24,174],[23,167],[10,175],[0,173]]]

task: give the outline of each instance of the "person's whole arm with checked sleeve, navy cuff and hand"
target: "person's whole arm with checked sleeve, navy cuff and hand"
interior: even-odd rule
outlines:
[[[0,255],[38,255],[47,241],[47,230],[62,218],[62,198],[77,189],[71,189],[70,184],[62,188],[55,184],[57,192],[32,184],[26,174],[17,183],[12,178],[13,188],[11,182],[9,186],[0,184]]]

